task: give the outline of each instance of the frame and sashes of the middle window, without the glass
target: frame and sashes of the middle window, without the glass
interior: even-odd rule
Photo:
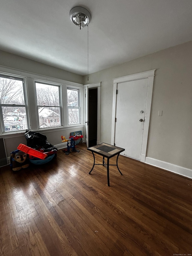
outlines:
[[[36,91],[36,83],[41,83],[41,84],[45,84],[45,85],[49,85],[49,86],[57,86],[58,90],[59,90],[59,105],[58,106],[47,106],[47,105],[38,105],[37,102],[37,91]],[[61,128],[63,127],[63,104],[62,104],[62,85],[60,83],[54,83],[54,82],[50,82],[50,81],[44,81],[44,80],[38,80],[38,79],[34,79],[34,91],[35,91],[35,108],[36,108],[36,118],[37,118],[37,124],[38,124],[38,130],[41,129],[55,129],[55,128]],[[60,125],[57,126],[50,126],[50,127],[44,127],[41,128],[40,127],[40,123],[39,123],[39,111],[38,111],[38,107],[58,107],[60,109]],[[51,116],[50,118],[47,118],[48,122],[46,123],[51,123],[51,121],[49,122],[49,120],[53,120],[53,117]],[[53,122],[53,121],[52,121]],[[58,122],[57,122],[58,123]]]

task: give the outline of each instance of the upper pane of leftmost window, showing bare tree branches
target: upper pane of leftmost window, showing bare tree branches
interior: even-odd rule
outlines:
[[[1,104],[24,105],[23,82],[0,77]]]

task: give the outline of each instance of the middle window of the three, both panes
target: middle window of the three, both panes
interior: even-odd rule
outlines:
[[[61,126],[60,86],[35,82],[39,128]],[[56,117],[58,122],[50,119]],[[49,122],[45,120],[48,119]]]

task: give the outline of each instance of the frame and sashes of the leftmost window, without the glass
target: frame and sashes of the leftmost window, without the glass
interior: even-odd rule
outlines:
[[[28,101],[26,77],[19,76],[19,75],[16,75],[16,74],[4,73],[4,72],[0,72],[0,77],[1,78],[7,78],[7,79],[13,79],[13,80],[22,81],[23,98],[24,98],[24,104],[1,104],[1,100],[0,100],[0,134],[22,133],[23,131],[26,131],[26,129],[30,129],[31,128],[30,117],[29,117],[29,101]],[[2,107],[15,107],[15,108],[16,107],[18,107],[18,108],[19,107],[25,107],[25,110],[26,110],[26,128],[25,129],[16,130],[16,131],[13,131],[13,130],[5,131]]]

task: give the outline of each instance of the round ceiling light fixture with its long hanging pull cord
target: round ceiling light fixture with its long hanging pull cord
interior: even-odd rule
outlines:
[[[70,19],[80,29],[87,26],[87,80],[89,80],[89,31],[88,24],[91,21],[91,14],[83,7],[74,7],[70,10]]]

